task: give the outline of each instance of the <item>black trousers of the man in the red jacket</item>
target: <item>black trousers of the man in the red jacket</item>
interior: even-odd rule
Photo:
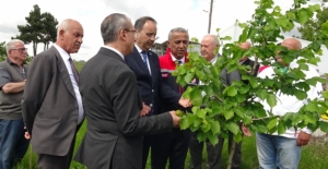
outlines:
[[[184,169],[190,143],[190,131],[173,129],[172,132],[153,135],[152,169]]]

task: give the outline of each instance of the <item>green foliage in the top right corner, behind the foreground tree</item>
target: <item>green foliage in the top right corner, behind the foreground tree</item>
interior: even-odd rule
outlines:
[[[326,21],[328,21],[328,8],[323,7],[314,20],[308,20],[304,25],[298,27],[298,31],[302,34],[301,38],[309,41],[317,39],[321,25]],[[328,39],[327,36],[320,38],[324,40]]]

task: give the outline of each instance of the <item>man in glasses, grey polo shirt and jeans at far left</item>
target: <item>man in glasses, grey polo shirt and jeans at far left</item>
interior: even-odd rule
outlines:
[[[11,169],[23,159],[30,143],[21,108],[27,68],[22,40],[9,41],[5,50],[8,58],[0,63],[0,168]]]

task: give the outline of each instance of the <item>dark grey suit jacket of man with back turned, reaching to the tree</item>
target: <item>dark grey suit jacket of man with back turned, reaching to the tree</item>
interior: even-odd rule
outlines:
[[[144,134],[169,132],[169,113],[140,117],[134,73],[115,51],[101,48],[83,67],[80,90],[87,131],[74,157],[90,169],[141,169]]]

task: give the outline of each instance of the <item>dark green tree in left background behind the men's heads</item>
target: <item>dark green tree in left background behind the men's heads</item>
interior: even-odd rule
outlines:
[[[17,25],[21,34],[14,38],[21,39],[25,44],[32,43],[33,56],[36,56],[37,44],[43,43],[45,45],[44,49],[47,49],[49,41],[56,40],[58,22],[50,13],[40,13],[40,8],[37,4],[33,5],[33,10],[25,20],[27,24]]]

